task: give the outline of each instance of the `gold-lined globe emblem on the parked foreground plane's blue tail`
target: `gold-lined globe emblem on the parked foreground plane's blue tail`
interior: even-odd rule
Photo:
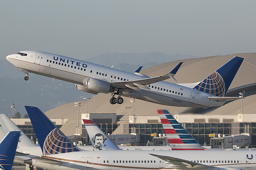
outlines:
[[[53,129],[44,142],[44,155],[79,151],[58,129]]]

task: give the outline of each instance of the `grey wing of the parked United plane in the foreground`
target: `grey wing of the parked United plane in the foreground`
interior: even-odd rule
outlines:
[[[223,169],[215,166],[191,162],[191,161],[170,157],[170,156],[161,156],[161,155],[155,155],[155,154],[150,154],[150,155],[160,158],[162,160],[165,160],[167,163],[172,164],[170,166],[175,166],[177,169],[216,169],[216,170]]]

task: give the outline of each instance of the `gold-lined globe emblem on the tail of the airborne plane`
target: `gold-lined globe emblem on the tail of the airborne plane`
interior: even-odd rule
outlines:
[[[213,94],[216,96],[225,95],[225,82],[221,75],[215,71],[210,76],[200,82],[194,89]]]

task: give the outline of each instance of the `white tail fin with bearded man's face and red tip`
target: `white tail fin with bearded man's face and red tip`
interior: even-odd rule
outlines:
[[[95,150],[120,150],[92,120],[82,120]]]

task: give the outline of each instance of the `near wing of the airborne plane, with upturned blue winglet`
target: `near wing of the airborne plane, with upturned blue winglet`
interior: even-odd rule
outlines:
[[[157,76],[157,77],[152,77],[152,78],[146,78],[146,79],[139,79],[139,80],[132,80],[132,81],[119,81],[119,82],[115,82],[112,81],[110,82],[112,86],[116,87],[116,88],[132,88],[133,87],[137,87],[137,88],[145,88],[145,89],[149,89],[146,85],[148,84],[152,84],[152,83],[157,83],[169,78],[172,78],[173,80],[176,81],[176,79],[174,78],[176,72],[178,71],[178,69],[180,68],[181,64],[183,62],[180,62],[172,71],[168,72],[168,74],[166,75],[162,75],[162,76]]]

